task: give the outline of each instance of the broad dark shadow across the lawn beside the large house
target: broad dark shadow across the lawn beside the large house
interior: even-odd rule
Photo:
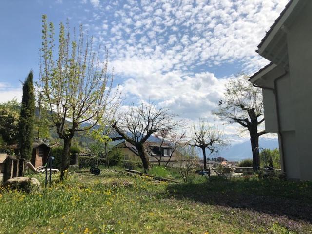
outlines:
[[[170,196],[211,205],[255,210],[312,224],[312,183],[211,178],[169,184]]]

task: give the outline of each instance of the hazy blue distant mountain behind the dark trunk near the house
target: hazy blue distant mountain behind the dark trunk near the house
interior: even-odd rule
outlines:
[[[259,146],[264,149],[276,149],[278,148],[277,139],[260,139]],[[260,150],[261,151],[261,150]],[[221,150],[212,157],[224,157],[229,161],[240,161],[247,158],[253,158],[250,141],[244,141],[235,145],[230,145],[226,149]]]

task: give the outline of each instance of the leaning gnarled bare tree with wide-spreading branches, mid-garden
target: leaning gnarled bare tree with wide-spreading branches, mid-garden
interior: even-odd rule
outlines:
[[[156,108],[152,103],[135,106],[132,104],[113,123],[113,128],[126,141],[133,144],[142,160],[145,172],[149,170],[149,159],[144,143],[157,131],[171,131],[178,123],[168,109]]]

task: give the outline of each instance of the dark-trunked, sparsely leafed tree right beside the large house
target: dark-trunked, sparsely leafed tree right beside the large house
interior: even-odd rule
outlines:
[[[264,122],[262,91],[247,79],[246,75],[239,75],[228,82],[224,100],[219,101],[219,109],[214,113],[222,120],[238,123],[249,131],[256,171],[260,169],[259,137],[266,133],[265,130],[258,131]]]

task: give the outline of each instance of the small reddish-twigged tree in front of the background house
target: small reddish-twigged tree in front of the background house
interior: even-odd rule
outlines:
[[[176,123],[176,125],[179,125],[179,124]],[[153,145],[152,142],[147,142],[147,151],[150,153],[152,157],[154,157],[157,160],[158,166],[160,166],[160,163],[163,157],[166,157],[167,160],[165,163],[165,167],[167,167],[171,161],[172,156],[176,153],[179,153],[177,152],[177,149],[187,144],[185,140],[186,138],[185,132],[178,133],[176,131],[161,130],[161,131],[157,131],[154,134],[154,136],[158,138],[160,141],[159,145],[155,147],[157,148],[157,153],[159,156],[158,155],[155,156],[153,154],[153,150],[151,148]],[[164,149],[163,149],[164,145],[167,145],[169,147],[168,155],[164,154]]]

